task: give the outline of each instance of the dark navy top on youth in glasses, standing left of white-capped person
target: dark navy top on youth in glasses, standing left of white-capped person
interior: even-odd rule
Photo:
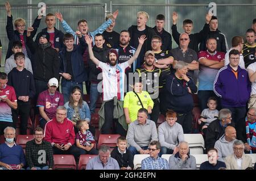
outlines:
[[[22,71],[13,68],[8,74],[7,84],[14,87],[17,99],[19,96],[29,96],[30,99],[35,96],[34,77],[25,68]]]

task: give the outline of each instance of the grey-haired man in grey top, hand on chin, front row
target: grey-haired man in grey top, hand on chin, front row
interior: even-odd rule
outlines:
[[[169,158],[170,170],[196,170],[196,158],[188,154],[188,143],[181,141],[179,151]]]

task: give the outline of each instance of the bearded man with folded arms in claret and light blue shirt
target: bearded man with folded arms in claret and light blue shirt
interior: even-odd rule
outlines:
[[[198,93],[201,110],[207,107],[207,100],[216,95],[213,92],[213,82],[218,70],[224,66],[224,52],[218,52],[217,41],[214,37],[207,40],[207,50],[198,53],[199,58],[199,87]],[[220,100],[218,100],[218,106]],[[219,110],[219,109],[218,109]]]

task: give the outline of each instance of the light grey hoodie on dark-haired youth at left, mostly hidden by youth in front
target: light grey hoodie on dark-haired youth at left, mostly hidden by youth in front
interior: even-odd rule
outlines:
[[[9,74],[13,68],[16,67],[16,63],[14,60],[14,54],[12,54],[9,58],[6,59],[5,61],[5,73]],[[24,63],[24,68],[30,71],[33,74],[32,66],[31,66],[31,61],[30,58],[25,57],[25,63]]]

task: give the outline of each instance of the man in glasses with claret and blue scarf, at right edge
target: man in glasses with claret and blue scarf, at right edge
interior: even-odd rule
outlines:
[[[238,140],[245,143],[246,153],[256,153],[256,108],[251,107],[247,112],[247,116],[238,123]]]

